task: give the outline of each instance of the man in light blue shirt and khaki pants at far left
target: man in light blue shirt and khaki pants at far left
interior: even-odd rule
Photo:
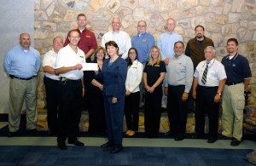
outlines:
[[[13,137],[20,128],[20,112],[26,102],[26,129],[37,135],[38,81],[40,54],[30,47],[31,38],[28,33],[21,33],[20,45],[10,49],[4,56],[3,67],[9,75],[9,134]]]

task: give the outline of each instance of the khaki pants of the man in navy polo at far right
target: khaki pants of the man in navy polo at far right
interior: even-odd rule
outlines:
[[[244,84],[225,85],[222,96],[222,135],[241,140],[244,106]]]

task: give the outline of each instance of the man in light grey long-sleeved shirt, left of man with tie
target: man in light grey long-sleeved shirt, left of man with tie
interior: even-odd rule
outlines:
[[[183,140],[187,124],[187,100],[193,81],[192,60],[183,54],[183,42],[174,43],[175,55],[166,66],[165,94],[167,95],[167,112],[171,131],[176,135],[174,140]]]

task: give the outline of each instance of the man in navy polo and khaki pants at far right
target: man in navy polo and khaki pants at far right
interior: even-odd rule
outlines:
[[[219,139],[232,139],[230,146],[239,146],[242,136],[243,109],[245,106],[244,90],[247,90],[252,72],[248,60],[237,53],[238,41],[230,38],[227,41],[228,55],[221,63],[227,73],[227,81],[222,97],[222,135]]]

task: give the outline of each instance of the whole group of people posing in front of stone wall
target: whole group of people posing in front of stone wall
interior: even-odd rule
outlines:
[[[53,39],[53,49],[44,54],[43,69],[47,101],[49,135],[57,135],[61,150],[66,140],[84,146],[78,140],[79,122],[86,94],[89,132],[104,134],[113,147],[111,153],[123,150],[123,117],[125,135],[138,130],[139,105],[144,104],[145,135],[159,134],[161,107],[166,107],[170,132],[174,140],[186,136],[187,112],[195,100],[195,135],[205,135],[205,114],[209,117],[208,143],[231,139],[231,146],[241,143],[243,92],[252,77],[248,61],[237,53],[236,38],[227,41],[228,55],[215,59],[212,39],[204,36],[204,27],[195,27],[195,38],[185,49],[183,38],[174,31],[176,21],[166,20],[166,32],[154,43],[147,33],[147,23],[137,24],[137,35],[130,38],[120,31],[120,19],[113,17],[113,31],[102,37],[97,46],[95,34],[86,29],[86,16],[77,17],[78,29],[69,31],[65,43]],[[30,46],[30,36],[20,34],[20,45],[10,49],[4,58],[4,69],[10,79],[9,137],[17,134],[20,111],[26,102],[26,129],[36,135],[37,87],[40,54]],[[94,59],[92,60],[92,55]],[[86,63],[96,63],[97,71],[83,71]],[[218,135],[218,109],[222,100],[223,132]]]

